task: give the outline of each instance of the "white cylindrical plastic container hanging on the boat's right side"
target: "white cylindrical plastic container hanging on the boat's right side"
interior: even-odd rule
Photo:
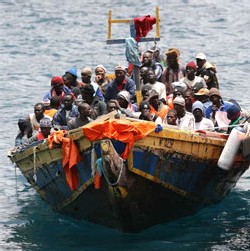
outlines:
[[[241,130],[241,131],[240,131]],[[224,149],[220,155],[220,158],[218,160],[218,166],[224,170],[230,170],[234,158],[239,150],[240,144],[242,140],[245,138],[246,134],[245,132],[242,132],[241,127],[235,127],[231,131],[227,143],[224,146]]]

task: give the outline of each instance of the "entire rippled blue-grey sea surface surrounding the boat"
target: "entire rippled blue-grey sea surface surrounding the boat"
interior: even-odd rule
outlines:
[[[161,52],[179,48],[183,64],[204,52],[225,100],[250,110],[248,0],[0,0],[0,250],[250,250],[250,171],[218,205],[124,234],[55,213],[7,158],[17,120],[41,101],[52,76],[126,63],[124,45],[106,45],[108,10],[127,19],[154,16],[156,6]],[[112,37],[128,36],[127,24],[113,25]]]

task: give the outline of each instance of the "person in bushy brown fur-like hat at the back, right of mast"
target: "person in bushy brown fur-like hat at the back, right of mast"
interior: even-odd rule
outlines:
[[[161,82],[166,86],[167,95],[173,93],[171,84],[185,76],[185,68],[180,63],[180,51],[170,48],[166,52],[166,68],[162,73]]]

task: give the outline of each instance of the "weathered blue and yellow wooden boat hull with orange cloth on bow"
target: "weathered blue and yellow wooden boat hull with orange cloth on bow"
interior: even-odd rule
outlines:
[[[125,232],[221,201],[249,168],[242,147],[228,170],[218,166],[229,141],[224,134],[154,128],[153,122],[109,116],[67,132],[64,139],[80,153],[71,165],[75,187],[65,169],[70,161],[64,159],[64,143],[55,135],[52,147],[53,137],[50,144],[46,140],[12,151],[10,159],[54,210]]]

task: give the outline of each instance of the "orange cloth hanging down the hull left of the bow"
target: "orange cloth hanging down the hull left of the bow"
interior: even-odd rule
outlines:
[[[63,170],[66,175],[67,182],[72,191],[78,187],[78,174],[76,164],[80,161],[81,155],[72,138],[66,138],[64,130],[56,131],[49,135],[48,146],[51,149],[53,143],[62,144],[63,151]]]

